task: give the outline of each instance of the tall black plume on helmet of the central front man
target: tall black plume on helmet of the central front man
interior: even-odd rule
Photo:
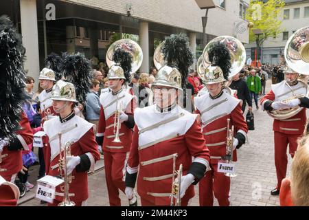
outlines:
[[[181,73],[182,87],[185,89],[185,80],[189,74],[189,67],[193,63],[193,54],[189,48],[189,39],[185,34],[172,34],[165,38],[162,47],[164,60],[170,67],[176,67]]]

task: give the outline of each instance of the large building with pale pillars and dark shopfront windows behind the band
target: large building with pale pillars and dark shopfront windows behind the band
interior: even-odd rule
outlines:
[[[208,13],[207,42],[230,35],[248,43],[247,0],[214,3],[217,7]],[[155,48],[170,34],[187,34],[196,58],[203,52],[201,17],[205,10],[194,0],[1,0],[0,14],[7,14],[22,34],[25,69],[34,78],[51,52],[82,52],[105,63],[108,46],[124,38],[141,45],[144,61],[140,72],[153,66]]]

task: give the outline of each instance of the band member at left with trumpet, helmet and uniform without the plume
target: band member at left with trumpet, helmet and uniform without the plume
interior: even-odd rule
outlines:
[[[59,174],[59,143],[63,149],[67,142],[71,142],[71,156],[67,156],[67,175],[73,176],[69,184],[69,197],[76,206],[84,206],[89,197],[87,171],[93,171],[95,162],[100,159],[93,124],[75,115],[73,108],[78,101],[73,84],[59,80],[51,92],[51,99],[54,111],[59,116],[46,121],[43,125],[48,140],[47,175]],[[59,136],[59,133],[62,135]],[[48,205],[57,206],[63,196],[62,187],[57,186],[54,203]]]

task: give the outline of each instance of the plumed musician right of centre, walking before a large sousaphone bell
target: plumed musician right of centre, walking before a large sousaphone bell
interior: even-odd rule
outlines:
[[[231,126],[236,131],[233,150],[244,144],[248,132],[240,100],[223,91],[222,83],[229,75],[230,60],[229,50],[223,43],[217,42],[209,49],[209,61],[212,64],[205,69],[205,84],[209,92],[194,98],[211,157],[225,156],[227,129],[231,129]],[[227,119],[231,120],[229,128]],[[233,151],[233,155],[236,159],[236,151]],[[220,206],[229,206],[230,178],[217,171],[218,159],[211,159],[210,167],[211,172],[199,182],[200,206],[213,206],[214,195]]]

